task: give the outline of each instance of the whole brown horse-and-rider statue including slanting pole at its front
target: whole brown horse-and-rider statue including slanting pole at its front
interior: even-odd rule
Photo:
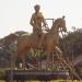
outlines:
[[[39,12],[40,7],[36,4],[34,7],[35,13],[32,14],[30,24],[33,26],[33,33],[31,35],[23,35],[21,37],[17,37],[17,35],[14,35],[17,38],[17,45],[16,45],[16,51],[13,56],[13,67],[15,68],[15,61],[17,56],[21,57],[23,69],[25,69],[25,57],[27,52],[33,49],[43,49],[47,52],[47,68],[49,65],[49,57],[50,55],[55,54],[60,59],[60,61],[67,66],[70,71],[79,78],[77,72],[73,70],[73,68],[63,59],[63,54],[58,47],[59,44],[59,32],[67,32],[66,27],[66,20],[65,15],[62,17],[58,17],[55,20],[51,28],[48,27],[45,17],[43,16],[43,13]],[[45,31],[47,33],[43,33],[43,26],[45,27]],[[80,79],[80,78],[79,78]]]

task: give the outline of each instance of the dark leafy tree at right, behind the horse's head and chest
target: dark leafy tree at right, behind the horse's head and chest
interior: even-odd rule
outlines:
[[[82,32],[77,30],[69,32],[67,36],[60,38],[60,47],[66,56],[78,57],[82,54]]]

